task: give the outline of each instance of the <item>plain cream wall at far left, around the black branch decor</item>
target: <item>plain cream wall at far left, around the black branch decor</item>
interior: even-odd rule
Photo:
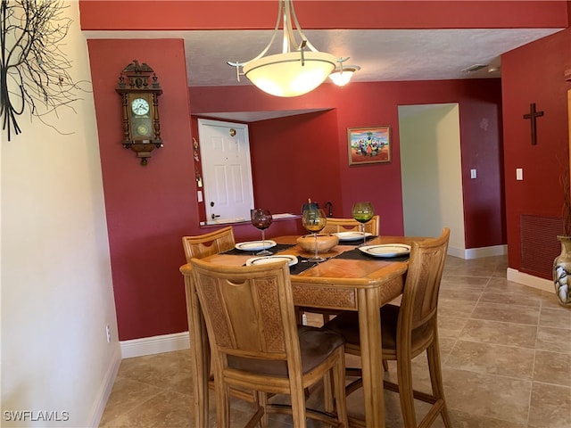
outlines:
[[[63,3],[70,74],[90,81],[78,2]],[[3,427],[96,426],[120,364],[95,106],[78,95],[77,114],[45,118],[70,135],[28,113],[20,136],[2,133]],[[8,421],[17,411],[30,413]]]

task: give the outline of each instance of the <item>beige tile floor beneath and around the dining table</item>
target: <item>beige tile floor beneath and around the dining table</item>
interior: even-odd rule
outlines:
[[[443,382],[455,428],[571,427],[571,309],[553,293],[506,280],[506,258],[449,257],[440,293]],[[310,324],[319,321],[310,316]],[[348,358],[348,361],[350,359]],[[358,363],[358,359],[351,360]],[[390,363],[387,376],[394,376]],[[414,384],[429,391],[426,358],[415,359]],[[319,391],[310,400],[319,401]],[[215,407],[211,393],[211,426]],[[101,428],[192,426],[188,350],[127,358],[103,413]],[[232,426],[250,405],[233,402]],[[359,416],[360,391],[348,398]],[[418,418],[426,407],[420,403]],[[385,392],[386,427],[402,427],[398,396]],[[285,416],[271,426],[287,427]],[[442,427],[439,417],[434,424]],[[374,428],[374,427],[372,427]]]

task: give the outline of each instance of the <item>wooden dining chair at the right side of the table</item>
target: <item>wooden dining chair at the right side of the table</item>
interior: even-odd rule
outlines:
[[[439,414],[443,417],[444,426],[451,428],[444,400],[436,317],[449,240],[450,229],[445,227],[440,237],[412,244],[401,306],[388,304],[380,313],[383,359],[396,360],[397,367],[397,383],[385,381],[385,388],[399,392],[402,419],[407,428],[430,426]],[[343,312],[329,321],[326,327],[343,334],[347,353],[360,355],[359,319],[356,312]],[[412,386],[412,358],[424,351],[428,359],[432,394],[415,391]],[[346,374],[360,376],[360,370],[348,368]],[[346,393],[350,394],[361,386],[362,379],[358,379],[347,385]],[[414,399],[432,404],[418,425]]]

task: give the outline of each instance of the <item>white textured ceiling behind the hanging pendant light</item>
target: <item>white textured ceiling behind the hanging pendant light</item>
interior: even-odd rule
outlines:
[[[501,77],[501,53],[561,29],[327,29],[305,30],[319,51],[350,57],[360,66],[354,82]],[[261,53],[272,30],[88,31],[87,38],[183,38],[188,86],[252,85],[236,80],[228,61],[246,62]],[[281,33],[269,53],[278,53]],[[473,65],[482,70],[465,72]],[[490,72],[489,69],[496,69]],[[273,117],[298,111],[273,112]],[[277,115],[277,116],[276,116]],[[213,117],[219,117],[212,114]],[[270,119],[272,113],[241,113],[220,119]]]

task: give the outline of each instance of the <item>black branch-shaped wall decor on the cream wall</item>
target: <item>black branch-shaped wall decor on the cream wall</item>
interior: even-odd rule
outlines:
[[[8,141],[21,134],[19,116],[29,111],[46,123],[46,115],[70,108],[85,91],[74,83],[71,62],[61,50],[72,23],[64,15],[63,0],[1,0],[0,6],[0,119]]]

